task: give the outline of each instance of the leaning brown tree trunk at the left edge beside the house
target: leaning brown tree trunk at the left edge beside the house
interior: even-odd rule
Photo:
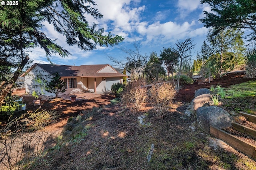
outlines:
[[[18,76],[20,75],[20,73],[23,70],[24,66],[26,65],[26,63],[28,63],[28,60],[29,60],[29,57],[26,56],[25,59],[23,59],[22,62],[20,63],[20,65],[18,66],[17,70],[14,72],[11,80],[8,83],[6,83],[5,85],[2,86],[2,88],[1,88],[1,96],[0,96],[0,106],[3,104],[4,98],[7,96],[7,94],[12,89],[13,84],[18,79]]]

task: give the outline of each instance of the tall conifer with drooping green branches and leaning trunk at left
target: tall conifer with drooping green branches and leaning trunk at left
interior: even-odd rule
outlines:
[[[50,39],[42,31],[45,23],[64,35],[68,45],[84,51],[123,41],[121,36],[105,35],[104,28],[96,29],[95,23],[89,25],[86,16],[95,20],[103,17],[94,6],[93,0],[19,0],[13,6],[0,6],[0,59],[12,61],[16,69],[14,76],[2,86],[0,105],[29,60],[26,52],[41,47],[49,61],[52,54],[70,55],[56,44],[56,39]]]

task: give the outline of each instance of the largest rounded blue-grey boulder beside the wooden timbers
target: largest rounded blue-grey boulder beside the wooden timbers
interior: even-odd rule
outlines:
[[[217,106],[199,107],[196,111],[198,126],[210,134],[210,126],[228,128],[232,126],[233,117],[226,110]]]

